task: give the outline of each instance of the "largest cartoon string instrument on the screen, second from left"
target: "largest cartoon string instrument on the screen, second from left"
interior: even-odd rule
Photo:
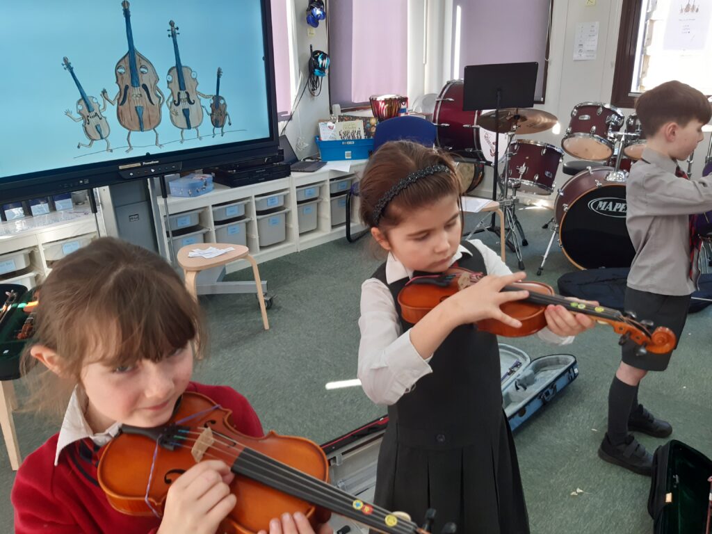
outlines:
[[[129,3],[124,0],[121,6],[126,21],[129,51],[120,58],[115,67],[119,92],[114,98],[109,98],[106,91],[102,95],[112,105],[116,105],[116,116],[120,124],[129,130],[126,137],[129,147],[126,152],[133,150],[131,132],[153,130],[156,134],[156,146],[162,147],[158,142],[156,127],[161,122],[161,106],[165,97],[158,87],[156,69],[134,46]]]

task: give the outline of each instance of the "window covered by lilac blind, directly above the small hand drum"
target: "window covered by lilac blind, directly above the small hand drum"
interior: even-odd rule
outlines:
[[[342,108],[371,95],[407,93],[407,0],[330,2],[329,92]]]

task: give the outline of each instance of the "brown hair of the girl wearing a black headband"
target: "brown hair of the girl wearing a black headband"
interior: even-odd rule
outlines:
[[[374,209],[391,187],[408,174],[434,165],[445,165],[449,172],[436,172],[410,184],[399,192],[374,220]],[[359,184],[359,214],[364,224],[379,229],[397,226],[403,215],[428,206],[450,195],[460,199],[461,182],[455,164],[444,152],[410,141],[387,142],[371,156]]]

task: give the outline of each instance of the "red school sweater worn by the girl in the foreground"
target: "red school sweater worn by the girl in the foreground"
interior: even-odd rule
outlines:
[[[186,391],[197,392],[232,410],[234,428],[248,436],[263,436],[262,425],[247,399],[231,387],[191,382]],[[16,534],[151,534],[161,521],[137,517],[111,507],[97,481],[101,449],[91,439],[81,439],[63,449],[55,466],[54,434],[30,454],[15,478],[11,501]]]

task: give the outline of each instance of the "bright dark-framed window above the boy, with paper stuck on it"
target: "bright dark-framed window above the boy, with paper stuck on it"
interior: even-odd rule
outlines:
[[[613,79],[613,104],[668,80],[712,94],[712,5],[703,0],[624,0]]]

